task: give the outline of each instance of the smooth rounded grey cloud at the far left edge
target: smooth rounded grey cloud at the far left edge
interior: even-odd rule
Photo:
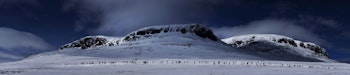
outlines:
[[[0,35],[0,49],[34,49],[38,51],[53,49],[53,47],[42,38],[28,32],[0,27]]]

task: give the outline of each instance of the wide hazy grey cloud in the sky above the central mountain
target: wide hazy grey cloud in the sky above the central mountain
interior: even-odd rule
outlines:
[[[86,27],[82,22],[99,20],[93,32],[125,35],[152,25],[206,23],[214,13],[212,6],[220,3],[239,5],[238,0],[73,0],[64,10],[79,9],[77,30]]]

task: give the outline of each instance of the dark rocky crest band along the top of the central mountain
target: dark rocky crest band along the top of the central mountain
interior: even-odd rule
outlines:
[[[207,38],[212,41],[218,41],[218,38],[213,34],[213,32],[203,25],[199,24],[186,24],[186,25],[163,25],[163,26],[152,26],[139,29],[134,31],[123,38],[111,38],[106,36],[87,36],[81,38],[80,40],[68,43],[60,47],[60,49],[66,48],[79,48],[88,49],[92,47],[99,46],[115,46],[121,44],[122,42],[132,42],[140,38],[151,38],[151,35],[156,36],[158,34],[168,34],[168,33],[181,33],[181,34],[193,34],[194,36],[199,36],[201,38]],[[180,35],[179,35],[180,36]]]

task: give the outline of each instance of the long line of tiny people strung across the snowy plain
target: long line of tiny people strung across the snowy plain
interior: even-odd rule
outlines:
[[[212,65],[243,65],[243,66],[270,66],[270,67],[290,67],[290,68],[323,68],[323,69],[335,69],[329,66],[318,66],[318,65],[300,65],[300,64],[273,64],[265,62],[249,62],[249,61],[188,61],[188,60],[159,60],[159,61],[148,61],[148,60],[124,60],[124,61],[99,61],[99,62],[80,62],[80,65],[94,65],[94,64],[116,64],[121,62],[122,64],[212,64]],[[49,63],[54,65],[78,65],[77,63]]]

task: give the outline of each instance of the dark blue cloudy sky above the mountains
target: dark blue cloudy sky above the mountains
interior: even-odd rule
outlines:
[[[350,2],[346,0],[142,1],[1,0],[0,26],[33,33],[59,47],[87,35],[123,36],[151,25],[199,23],[216,31],[225,27],[254,29],[259,23],[273,20],[291,23],[287,26],[298,28],[296,31],[307,31],[275,31],[281,35],[312,42],[316,37],[325,41],[321,46],[332,58],[350,57]],[[275,33],[273,28],[270,30],[262,33]],[[237,34],[219,37],[233,35]]]

